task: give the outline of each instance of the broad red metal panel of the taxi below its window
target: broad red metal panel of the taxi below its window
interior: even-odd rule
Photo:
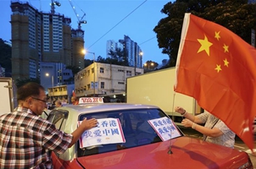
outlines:
[[[248,155],[200,139],[181,137],[127,150],[83,156],[77,161],[87,169],[239,168],[248,162]]]

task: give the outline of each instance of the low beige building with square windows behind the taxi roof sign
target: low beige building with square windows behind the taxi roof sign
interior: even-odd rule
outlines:
[[[126,78],[143,74],[143,68],[92,63],[75,74],[75,95],[97,96],[125,92]]]

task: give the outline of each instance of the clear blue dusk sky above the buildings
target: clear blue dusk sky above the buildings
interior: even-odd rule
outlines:
[[[0,38],[3,41],[11,40],[10,2],[10,0],[0,0],[2,13]],[[19,2],[28,2],[39,11],[50,13],[52,0],[20,0]],[[76,29],[78,19],[69,0],[59,0],[58,2],[61,3],[61,6],[55,7],[55,13],[71,18],[71,26]],[[162,53],[162,49],[159,49],[153,28],[158,25],[160,19],[166,17],[160,11],[170,1],[71,0],[71,2],[80,17],[84,13],[86,14],[83,19],[87,21],[87,24],[81,25],[81,29],[85,30],[85,49],[88,52],[95,52],[96,57],[106,57],[106,42],[108,40],[118,41],[124,39],[124,35],[128,35],[142,48],[142,63],[152,60],[160,64],[163,59],[169,58],[168,55]],[[93,55],[87,53],[85,58],[92,59]]]

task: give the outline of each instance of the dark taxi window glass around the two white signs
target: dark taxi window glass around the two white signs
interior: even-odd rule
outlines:
[[[95,155],[114,150],[129,149],[145,144],[153,144],[162,141],[159,135],[153,130],[148,120],[159,117],[167,117],[164,112],[159,109],[136,109],[125,111],[97,112],[93,114],[81,114],[79,121],[84,118],[119,118],[121,127],[125,135],[125,143],[119,144],[101,144],[87,148],[80,148],[77,144],[77,156]],[[182,135],[182,133],[181,133]]]

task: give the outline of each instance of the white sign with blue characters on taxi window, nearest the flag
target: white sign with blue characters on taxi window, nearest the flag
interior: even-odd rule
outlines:
[[[180,137],[181,133],[176,128],[175,124],[168,117],[160,117],[147,121],[155,132],[159,135],[159,138],[163,141]]]

